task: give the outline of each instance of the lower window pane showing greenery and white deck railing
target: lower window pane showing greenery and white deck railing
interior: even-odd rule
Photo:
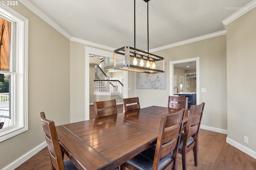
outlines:
[[[8,74],[0,74],[0,122],[4,122],[2,128],[13,125],[10,111],[10,77]]]

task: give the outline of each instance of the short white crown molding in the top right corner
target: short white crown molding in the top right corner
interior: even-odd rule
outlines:
[[[230,22],[236,20],[237,18],[239,18],[240,16],[244,15],[246,12],[252,10],[255,7],[256,7],[256,0],[253,0],[252,2],[250,2],[249,4],[247,4],[246,6],[244,6],[243,8],[241,8],[240,10],[238,10],[237,12],[235,12],[234,14],[232,14],[231,16],[226,18],[226,20],[222,21],[223,26],[226,29],[226,26]]]

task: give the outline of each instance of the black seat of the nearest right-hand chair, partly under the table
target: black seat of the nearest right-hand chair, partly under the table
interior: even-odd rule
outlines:
[[[152,146],[147,150],[141,152],[134,158],[128,160],[126,163],[134,166],[138,170],[152,170],[155,151],[155,146]],[[172,156],[170,154],[168,154],[164,158],[161,158],[159,161],[158,169],[162,170],[171,161]]]

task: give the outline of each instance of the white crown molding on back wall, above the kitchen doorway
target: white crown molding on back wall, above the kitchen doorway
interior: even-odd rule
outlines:
[[[188,39],[188,40],[184,40],[182,42],[177,42],[177,43],[172,43],[172,44],[169,44],[169,45],[164,45],[162,47],[150,49],[149,52],[154,52],[154,51],[159,51],[159,50],[163,50],[163,49],[167,49],[167,48],[172,48],[172,47],[176,47],[176,46],[179,46],[179,45],[184,45],[184,44],[187,44],[187,43],[197,42],[197,41],[200,41],[200,40],[205,40],[205,39],[208,39],[208,38],[221,36],[221,35],[224,35],[224,34],[226,34],[226,30],[214,32],[214,33],[207,34],[207,35],[200,36],[200,37],[196,37],[196,38],[191,38],[191,39]]]

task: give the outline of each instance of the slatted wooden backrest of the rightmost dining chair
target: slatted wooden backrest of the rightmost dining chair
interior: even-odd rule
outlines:
[[[192,136],[194,140],[197,141],[202,115],[204,112],[204,105],[205,103],[201,103],[200,105],[192,105],[190,107],[182,149],[186,148],[189,136]]]

